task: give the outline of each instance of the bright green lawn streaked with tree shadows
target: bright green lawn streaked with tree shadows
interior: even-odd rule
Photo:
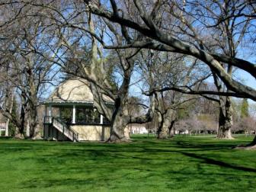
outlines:
[[[130,143],[0,139],[1,191],[255,191],[253,137],[177,136]]]

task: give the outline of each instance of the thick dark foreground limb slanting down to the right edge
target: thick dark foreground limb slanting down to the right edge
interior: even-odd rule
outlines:
[[[142,35],[150,38],[147,41],[136,41],[127,44],[126,46],[119,46],[119,48],[141,47],[174,53],[184,53],[194,56],[206,63],[206,65],[208,65],[210,69],[216,73],[222,82],[225,83],[227,88],[229,88],[230,91],[234,91],[232,94],[226,93],[226,95],[248,97],[255,100],[256,91],[253,88],[243,85],[241,82],[233,79],[222,67],[220,62],[229,63],[230,66],[236,66],[239,69],[243,69],[255,77],[254,72],[252,72],[255,71],[255,66],[253,63],[243,59],[232,58],[230,56],[226,56],[225,54],[211,53],[209,50],[203,50],[200,48],[200,46],[195,45],[194,41],[192,42],[178,39],[178,35],[176,34],[177,31],[172,30],[173,25],[166,25],[165,21],[167,18],[173,20],[172,18],[174,16],[172,10],[174,10],[174,7],[179,9],[180,6],[177,5],[184,5],[184,1],[156,1],[155,3],[148,4],[144,4],[140,1],[133,1],[133,3],[140,16],[139,21],[133,21],[132,18],[126,17],[127,14],[122,14],[122,16],[117,14],[119,9],[117,8],[117,3],[115,1],[111,1],[111,5],[113,5],[112,10],[104,7],[104,4],[95,4],[94,2],[88,2],[88,10],[103,18],[107,18],[110,21],[123,24],[126,27],[139,31]],[[101,5],[101,7],[98,5]],[[151,14],[148,14],[149,11],[146,10],[152,10]],[[185,11],[186,10],[182,8],[180,20],[183,20]],[[189,13],[189,11],[186,11],[186,13]],[[158,17],[155,17],[155,15],[158,15]],[[178,24],[180,23],[181,22],[178,22]],[[157,43],[155,43],[154,40],[156,40]],[[108,46],[104,47],[107,48]],[[111,47],[113,48],[113,46]]]

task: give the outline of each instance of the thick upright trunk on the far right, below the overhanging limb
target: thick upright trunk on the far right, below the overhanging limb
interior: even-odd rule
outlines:
[[[232,104],[229,97],[221,98],[219,105],[218,139],[233,139],[232,132]]]

